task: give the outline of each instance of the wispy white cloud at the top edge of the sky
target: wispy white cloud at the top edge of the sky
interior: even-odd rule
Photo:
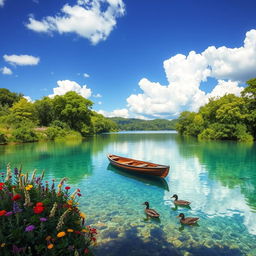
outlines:
[[[38,21],[30,16],[26,27],[35,32],[75,33],[97,44],[109,36],[116,19],[124,13],[122,0],[78,0],[74,6],[65,4],[54,17]]]

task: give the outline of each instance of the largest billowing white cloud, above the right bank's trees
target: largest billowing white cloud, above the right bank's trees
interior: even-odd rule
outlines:
[[[256,76],[256,30],[246,33],[240,48],[208,47],[202,53],[177,54],[163,63],[168,85],[143,78],[140,94],[127,98],[131,112],[151,117],[175,117],[183,110],[197,111],[210,97],[239,95],[239,85]],[[212,77],[217,84],[209,93],[201,83]]]

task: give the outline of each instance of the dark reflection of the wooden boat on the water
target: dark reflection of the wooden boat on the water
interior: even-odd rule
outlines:
[[[107,170],[113,171],[115,173],[118,173],[118,174],[128,177],[128,178],[140,181],[144,184],[159,187],[159,188],[169,191],[168,183],[164,178],[150,177],[150,176],[143,175],[143,174],[129,173],[125,170],[118,169],[118,168],[112,166],[111,164],[108,165]]]

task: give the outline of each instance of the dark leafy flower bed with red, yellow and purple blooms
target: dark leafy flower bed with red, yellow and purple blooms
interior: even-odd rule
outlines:
[[[43,177],[9,165],[1,173],[0,255],[92,255],[97,231],[77,207],[80,190]]]

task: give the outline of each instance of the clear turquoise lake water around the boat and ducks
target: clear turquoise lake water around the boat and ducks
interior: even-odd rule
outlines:
[[[110,166],[106,154],[170,165],[165,180],[133,176]],[[87,224],[99,231],[97,256],[256,255],[256,146],[197,142],[175,133],[105,134],[83,142],[0,146],[0,168],[10,162],[68,177],[80,188]],[[191,201],[175,208],[170,197]],[[160,220],[147,220],[149,201]],[[198,216],[182,226],[176,216]]]

